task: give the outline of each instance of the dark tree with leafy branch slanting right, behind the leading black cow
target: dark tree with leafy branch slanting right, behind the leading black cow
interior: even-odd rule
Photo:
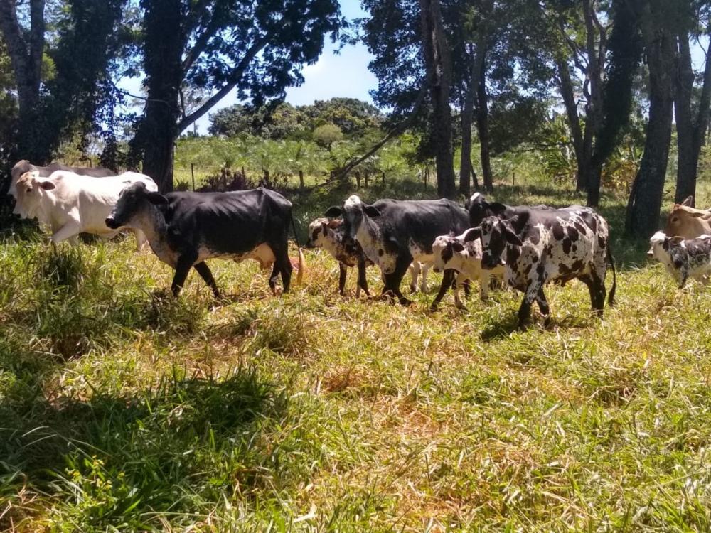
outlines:
[[[162,191],[173,186],[173,143],[181,131],[230,91],[255,107],[283,97],[341,26],[336,0],[142,0],[142,42],[148,95],[131,142],[131,161]],[[181,114],[186,85],[213,90]]]

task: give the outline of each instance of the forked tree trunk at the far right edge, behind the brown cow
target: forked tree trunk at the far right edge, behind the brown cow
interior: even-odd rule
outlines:
[[[701,97],[696,117],[691,106],[694,88],[694,71],[691,65],[689,36],[685,31],[678,34],[679,73],[676,78],[674,114],[676,118],[679,158],[676,174],[675,201],[683,202],[688,196],[696,195],[696,179],[699,156],[704,143],[709,122],[711,100],[711,49],[706,52],[706,66],[702,82]],[[694,205],[694,203],[692,203]]]

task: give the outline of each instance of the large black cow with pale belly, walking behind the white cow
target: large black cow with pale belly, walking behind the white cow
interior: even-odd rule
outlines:
[[[281,274],[284,292],[289,291],[289,223],[293,228],[292,203],[273,190],[161,195],[142,183],[125,188],[106,219],[108,227],[137,227],[146,233],[153,252],[176,270],[171,286],[175,296],[194,266],[216,297],[220,293],[205,264],[211,257],[273,264],[269,288],[274,292]],[[299,249],[299,277],[303,272]]]

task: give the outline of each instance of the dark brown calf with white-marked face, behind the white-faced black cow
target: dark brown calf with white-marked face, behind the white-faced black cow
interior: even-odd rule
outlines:
[[[368,292],[368,280],[365,278],[365,266],[373,264],[369,259],[365,258],[360,244],[353,239],[348,238],[343,230],[343,220],[338,218],[317,218],[309,224],[309,247],[323,248],[338,261],[339,277],[338,277],[338,293],[343,296],[346,287],[346,276],[348,268],[358,266],[358,289],[355,291],[355,296],[360,296],[360,289],[365,291],[365,294],[370,296]],[[427,271],[431,264],[420,264],[413,262],[410,265],[410,291],[417,290],[417,278],[422,273],[421,290],[427,292]]]

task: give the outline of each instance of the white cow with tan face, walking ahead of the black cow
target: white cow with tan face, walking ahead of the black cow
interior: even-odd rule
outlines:
[[[41,178],[38,171],[26,172],[17,181],[13,212],[50,226],[54,244],[65,239],[76,244],[81,232],[109,239],[122,228],[112,230],[107,227],[106,217],[116,205],[121,191],[137,181],[145,183],[148,190],[158,190],[156,182],[137,172],[100,180],[69,171],[55,171],[47,178]],[[141,230],[134,232],[138,249],[141,249],[146,236]]]

